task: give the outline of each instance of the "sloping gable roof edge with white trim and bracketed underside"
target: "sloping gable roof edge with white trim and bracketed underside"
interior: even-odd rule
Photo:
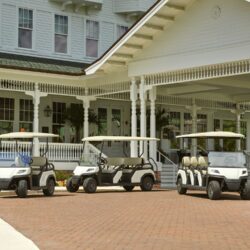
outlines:
[[[126,68],[134,55],[151,44],[154,37],[171,25],[192,2],[194,0],[158,0],[99,59],[84,70],[85,74]]]

